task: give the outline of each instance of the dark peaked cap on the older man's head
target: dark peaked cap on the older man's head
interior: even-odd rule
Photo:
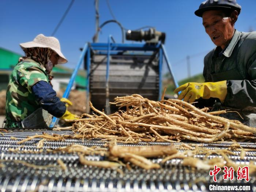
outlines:
[[[241,6],[237,4],[236,0],[207,0],[201,3],[199,9],[195,11],[195,15],[202,17],[205,11],[222,9],[236,10],[239,15]]]

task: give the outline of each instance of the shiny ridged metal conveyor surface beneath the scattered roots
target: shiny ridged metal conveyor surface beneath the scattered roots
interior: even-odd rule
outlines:
[[[71,131],[51,131],[51,130],[23,130],[23,131],[9,131],[0,136],[0,189],[1,191],[101,191],[101,192],[167,192],[167,191],[207,191],[207,183],[212,182],[209,173],[201,170],[193,170],[191,167],[183,166],[180,159],[172,159],[164,164],[161,164],[161,159],[153,159],[161,165],[160,169],[144,170],[137,166],[131,166],[128,170],[126,167],[121,168],[120,171],[114,169],[103,169],[93,166],[84,166],[79,163],[77,154],[64,153],[49,153],[46,149],[56,149],[58,147],[67,146],[70,144],[82,144],[84,146],[101,146],[104,142],[100,139],[81,140],[81,139],[66,139],[60,141],[46,141],[44,151],[37,153],[36,144],[40,138],[25,142],[22,145],[16,144],[17,141],[25,139],[26,136],[36,134],[61,134],[70,135]],[[18,140],[12,140],[13,136]],[[196,143],[196,142],[184,142]],[[148,144],[162,144],[167,145],[167,142],[146,143],[140,142],[138,145]],[[176,143],[181,144],[181,143]],[[200,143],[202,144],[202,143]],[[204,147],[227,148],[230,143],[212,143],[203,144]],[[124,145],[119,143],[118,145]],[[134,146],[135,144],[125,144],[125,146]],[[240,160],[240,156],[229,155],[230,159],[235,162],[240,162],[241,165],[246,165],[249,161],[256,161],[256,144],[255,143],[240,143],[244,148],[251,150],[246,151],[244,160]],[[12,153],[9,148],[20,147],[20,151],[33,150],[34,153]],[[198,155],[200,157],[200,155]],[[210,158],[217,157],[211,155]],[[58,166],[49,167],[47,169],[34,169],[27,167],[17,161],[26,161],[35,165],[57,165],[57,159],[61,159],[67,170],[61,170]],[[101,156],[90,156],[89,160],[99,161],[103,160]],[[15,162],[16,161],[16,162]],[[122,174],[123,172],[123,174]],[[250,177],[247,183],[244,180],[237,181],[236,177],[232,181],[223,181],[222,174],[217,176],[219,182],[231,182],[250,184],[252,191],[256,191],[256,177]]]

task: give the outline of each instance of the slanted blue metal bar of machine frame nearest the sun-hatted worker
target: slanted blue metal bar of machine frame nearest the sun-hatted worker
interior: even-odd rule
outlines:
[[[79,70],[79,68],[80,68],[80,65],[83,63],[83,58],[84,58],[84,55],[85,55],[87,49],[88,49],[88,43],[86,43],[86,44],[84,45],[83,51],[82,51],[82,53],[81,53],[81,55],[80,55],[80,58],[79,58],[79,61],[78,61],[78,64],[76,65],[76,68],[75,68],[75,70],[74,70],[74,72],[73,72],[73,74],[72,74],[72,76],[71,76],[71,78],[70,78],[70,81],[69,81],[69,83],[68,83],[67,89],[65,90],[65,93],[63,94],[63,98],[68,98],[68,96],[69,96],[69,93],[70,93],[71,88],[72,88],[72,86],[73,86],[73,84],[74,84],[75,77],[76,77],[76,75],[77,75],[77,73],[78,73],[78,70]],[[50,127],[50,128],[53,128],[54,125],[55,125],[57,122],[58,122],[58,118],[57,118],[57,117],[53,117],[53,118],[52,118],[52,123],[50,124],[49,127]]]

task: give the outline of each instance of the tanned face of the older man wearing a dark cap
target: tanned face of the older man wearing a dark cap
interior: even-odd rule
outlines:
[[[234,25],[230,17],[225,17],[220,10],[211,10],[203,13],[203,26],[212,42],[222,49],[233,37]]]

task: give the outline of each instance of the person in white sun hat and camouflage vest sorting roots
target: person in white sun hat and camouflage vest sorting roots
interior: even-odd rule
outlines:
[[[62,119],[75,119],[76,116],[67,110],[68,104],[72,103],[56,97],[50,84],[49,74],[54,65],[67,62],[60,51],[58,39],[39,34],[33,41],[20,46],[26,57],[14,67],[8,83],[4,127],[24,127],[28,117],[34,121],[32,127],[45,127],[38,124],[40,115],[44,114],[42,111]]]

